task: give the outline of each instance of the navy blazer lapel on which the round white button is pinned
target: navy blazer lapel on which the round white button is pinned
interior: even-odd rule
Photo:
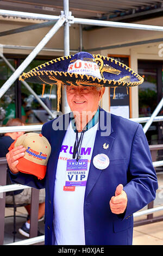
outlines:
[[[103,111],[103,109],[101,109],[101,111]],[[106,118],[107,114],[110,114],[110,113],[105,112],[104,118]],[[88,178],[87,178],[87,184],[86,184],[86,190],[85,190],[85,199],[88,196],[88,194],[91,192],[93,186],[95,186],[99,176],[103,172],[103,170],[97,169],[93,165],[93,157],[98,155],[98,154],[109,155],[112,144],[114,143],[114,139],[115,139],[113,136],[111,136],[111,133],[113,132],[112,127],[110,129],[110,135],[109,136],[108,135],[107,136],[102,136],[101,135],[102,134],[101,132],[104,132],[104,131],[101,130],[101,125],[100,125],[100,123],[102,121],[104,121],[104,120],[100,119],[99,125],[98,125],[98,130],[97,130],[97,133],[96,133],[95,144],[94,144],[92,157],[91,157],[90,170],[89,170],[89,175],[88,175]],[[109,147],[107,149],[104,149],[105,145],[106,146],[109,145]]]

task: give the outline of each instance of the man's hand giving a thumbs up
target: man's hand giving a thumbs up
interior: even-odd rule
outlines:
[[[116,187],[115,196],[110,199],[110,209],[113,214],[123,214],[127,207],[127,194],[123,190],[123,185]]]

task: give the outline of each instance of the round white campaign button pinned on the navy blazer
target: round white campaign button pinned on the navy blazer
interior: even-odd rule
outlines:
[[[109,157],[105,154],[98,154],[93,157],[93,164],[97,169],[106,169],[109,166]]]

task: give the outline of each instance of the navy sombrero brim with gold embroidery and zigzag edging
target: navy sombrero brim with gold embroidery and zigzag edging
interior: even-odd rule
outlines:
[[[53,59],[20,76],[21,81],[74,86],[133,87],[143,83],[143,78],[127,65],[110,57],[92,55],[98,63],[102,78],[67,72],[73,55]]]

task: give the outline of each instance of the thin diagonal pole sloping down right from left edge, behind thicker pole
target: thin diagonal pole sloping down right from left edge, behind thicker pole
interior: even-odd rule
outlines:
[[[1,58],[4,60],[4,62],[9,66],[9,68],[15,72],[14,67],[8,62],[8,60],[4,57],[3,53],[0,52]],[[39,98],[39,96],[34,92],[34,90],[29,86],[29,84],[25,81],[21,81],[22,84],[29,90],[30,93],[32,93],[35,97],[35,99],[40,103],[40,105],[47,111],[49,115],[51,115],[52,118],[55,118],[56,115],[54,115],[50,109],[43,103],[43,101]]]

